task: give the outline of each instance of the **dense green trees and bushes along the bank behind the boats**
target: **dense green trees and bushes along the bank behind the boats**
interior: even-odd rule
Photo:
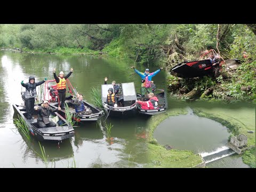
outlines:
[[[203,77],[180,81],[173,95],[183,99],[191,90],[204,92],[215,86],[204,99],[255,101],[255,25],[219,25],[221,54],[242,61],[231,76]],[[218,24],[26,24],[0,25],[0,47],[19,47],[22,51],[60,54],[105,54],[131,59],[138,65],[161,65],[168,70],[183,60],[196,59],[202,51],[216,49]],[[243,52],[247,57],[244,58]],[[225,72],[225,69],[222,70]],[[234,72],[234,71],[233,71]],[[169,76],[169,84],[175,83]],[[251,86],[244,91],[243,86]]]

